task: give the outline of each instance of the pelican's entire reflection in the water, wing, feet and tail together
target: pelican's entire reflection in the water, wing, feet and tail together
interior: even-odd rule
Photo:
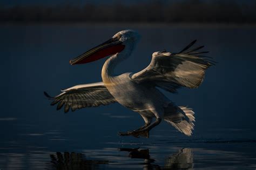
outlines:
[[[190,169],[193,168],[193,153],[190,148],[180,149],[157,165],[151,158],[149,149],[119,148],[121,152],[129,152],[131,159],[144,159],[143,169]],[[51,154],[51,165],[47,169],[100,169],[100,165],[111,165],[107,160],[88,160],[82,153],[57,152]],[[107,157],[106,157],[107,159]],[[140,164],[141,165],[141,164]],[[102,167],[106,168],[106,166]]]

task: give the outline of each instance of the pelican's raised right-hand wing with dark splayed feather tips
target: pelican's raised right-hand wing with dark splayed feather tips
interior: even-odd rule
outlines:
[[[134,73],[131,79],[137,83],[152,84],[172,93],[181,86],[197,88],[204,79],[205,71],[214,65],[214,62],[206,56],[201,56],[207,51],[197,51],[204,46],[190,50],[194,43],[196,40],[179,53],[154,52],[150,65]]]

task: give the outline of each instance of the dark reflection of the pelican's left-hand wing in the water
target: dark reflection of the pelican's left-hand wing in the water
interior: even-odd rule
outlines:
[[[84,154],[74,152],[56,152],[50,157],[50,169],[99,169],[100,164],[109,164],[106,160],[87,160]]]

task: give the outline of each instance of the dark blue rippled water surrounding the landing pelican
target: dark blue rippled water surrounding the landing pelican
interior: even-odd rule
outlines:
[[[119,137],[143,124],[119,104],[64,114],[50,106],[76,84],[101,81],[104,59],[69,60],[124,29],[142,40],[119,73],[143,69],[154,51],[193,39],[218,62],[196,90],[164,92],[196,112],[192,137],[161,123],[150,138]],[[250,26],[2,24],[0,169],[255,169],[256,28]]]

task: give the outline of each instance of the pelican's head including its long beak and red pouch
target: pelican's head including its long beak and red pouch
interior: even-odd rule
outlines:
[[[106,42],[86,51],[74,59],[71,59],[70,64],[94,62],[95,60],[120,53],[123,50],[131,52],[139,39],[139,33],[134,30],[119,31]]]

